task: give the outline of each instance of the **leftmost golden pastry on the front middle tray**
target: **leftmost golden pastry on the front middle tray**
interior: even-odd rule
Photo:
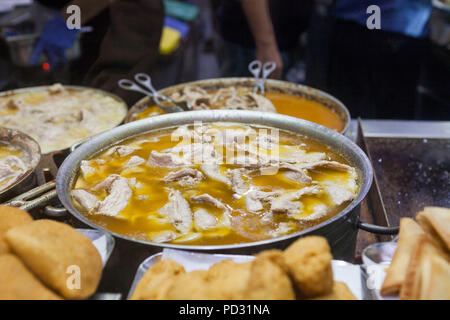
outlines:
[[[175,276],[186,273],[181,264],[165,259],[147,270],[131,296],[131,300],[163,299],[168,284]]]

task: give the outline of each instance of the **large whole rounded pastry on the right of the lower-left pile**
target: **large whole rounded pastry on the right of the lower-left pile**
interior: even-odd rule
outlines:
[[[10,250],[64,298],[84,299],[97,289],[102,274],[100,254],[86,236],[72,227],[36,220],[10,229],[5,239]],[[74,267],[80,272],[79,288],[68,281]]]

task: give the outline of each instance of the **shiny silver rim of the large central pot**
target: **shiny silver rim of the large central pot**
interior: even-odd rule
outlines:
[[[283,237],[271,238],[255,242],[230,244],[230,245],[197,246],[197,245],[183,245],[170,243],[155,243],[140,239],[134,239],[128,236],[118,234],[116,232],[112,232],[106,228],[103,228],[93,223],[73,206],[70,190],[74,178],[79,170],[78,168],[81,160],[89,158],[90,156],[93,156],[94,154],[104,150],[108,146],[119,143],[120,141],[128,139],[132,136],[160,128],[169,128],[177,125],[193,123],[194,121],[199,120],[205,122],[237,122],[250,125],[262,125],[269,127],[271,126],[274,128],[293,131],[300,134],[302,134],[302,132],[300,131],[305,131],[310,133],[309,136],[313,136],[312,139],[319,140],[321,138],[322,140],[328,139],[329,141],[333,141],[332,146],[333,149],[338,149],[339,147],[344,148],[344,150],[346,150],[346,152],[348,152],[349,155],[352,154],[355,157],[354,160],[358,160],[360,162],[360,165],[357,168],[357,171],[359,171],[358,175],[360,178],[359,194],[356,197],[356,199],[354,199],[340,213],[314,227],[299,232],[291,233]],[[298,128],[297,131],[292,129],[295,127]],[[314,136],[313,133],[317,136]],[[255,247],[310,234],[320,228],[323,228],[326,225],[329,225],[339,219],[344,218],[349,212],[351,212],[355,207],[357,207],[367,195],[370,186],[372,184],[372,177],[373,177],[372,165],[366,154],[350,139],[324,126],[318,125],[310,121],[298,119],[295,117],[267,112],[244,111],[244,110],[214,110],[214,111],[203,110],[203,111],[172,113],[156,117],[150,117],[138,121],[133,121],[128,124],[111,129],[110,131],[94,136],[93,138],[89,139],[86,143],[81,145],[74,152],[72,152],[69,155],[69,157],[67,157],[64,160],[56,177],[56,190],[58,193],[58,197],[62,202],[62,204],[64,205],[64,207],[68,209],[69,212],[72,215],[74,215],[77,219],[81,220],[83,223],[87,224],[92,228],[100,229],[104,232],[114,235],[117,238],[160,248],[173,248],[173,249],[183,249],[193,251],[211,251],[211,250],[228,250],[228,249]]]

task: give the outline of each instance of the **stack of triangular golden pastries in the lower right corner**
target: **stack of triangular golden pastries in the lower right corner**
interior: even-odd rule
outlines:
[[[397,249],[381,294],[402,300],[449,300],[450,209],[425,207],[416,221],[400,220]]]

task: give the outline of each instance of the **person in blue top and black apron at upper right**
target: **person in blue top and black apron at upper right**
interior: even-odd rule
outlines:
[[[380,8],[381,29],[367,20]],[[317,0],[308,34],[307,84],[352,117],[412,119],[431,0]]]

